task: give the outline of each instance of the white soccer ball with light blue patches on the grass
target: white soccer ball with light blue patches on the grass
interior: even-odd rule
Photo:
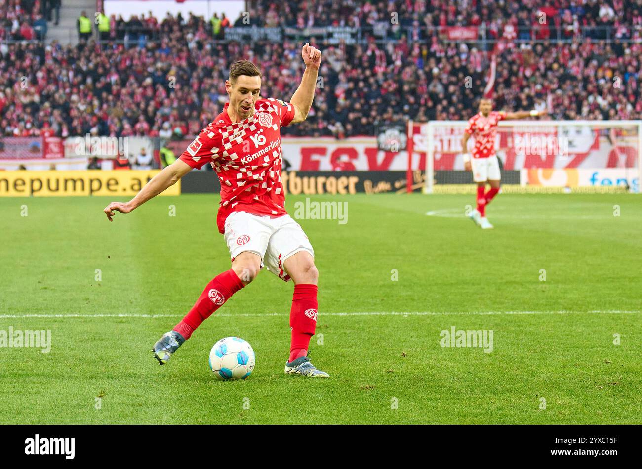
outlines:
[[[209,367],[220,380],[245,379],[254,369],[254,350],[241,337],[225,337],[209,353]]]

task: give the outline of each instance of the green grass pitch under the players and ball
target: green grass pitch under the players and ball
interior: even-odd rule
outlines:
[[[312,200],[348,207],[347,224],[298,220],[329,380],[284,375],[293,287],[265,271],[153,359],[229,269],[217,196],[157,197],[112,224],[105,198],[0,199],[0,330],[51,331],[49,353],[0,348],[0,422],[642,423],[641,196],[499,195],[489,231],[464,217],[474,196]],[[442,348],[453,326],[492,331],[492,352]],[[247,380],[208,369],[228,335],[256,351]]]

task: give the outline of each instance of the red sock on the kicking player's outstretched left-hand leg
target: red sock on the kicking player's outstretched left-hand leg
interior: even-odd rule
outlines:
[[[189,339],[189,336],[205,319],[223,306],[223,303],[241,288],[243,288],[243,282],[241,282],[234,270],[230,269],[218,274],[211,279],[203,293],[196,300],[195,305],[192,306],[182,321],[176,324],[173,330],[185,337],[185,340]]]

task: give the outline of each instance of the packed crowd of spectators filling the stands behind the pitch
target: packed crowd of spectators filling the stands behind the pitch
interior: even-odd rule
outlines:
[[[374,1],[359,7],[356,1],[333,0],[307,2],[303,8],[295,8],[292,0],[261,1],[251,11],[263,19],[264,26],[340,25],[343,21],[363,27],[398,12],[400,21],[422,18],[433,25],[497,20],[497,30],[503,31],[505,23],[518,19],[522,7],[530,3],[534,1],[505,2],[514,11],[507,18],[499,14],[504,8],[487,0]],[[582,24],[607,19],[616,27],[625,22],[627,31],[621,39],[634,34],[634,26],[642,26],[642,0],[553,3],[558,6],[553,16],[559,21],[570,14]],[[242,19],[241,15],[229,24],[239,26]],[[224,35],[227,26],[222,26],[222,16],[216,22],[193,15],[168,15],[162,21],[151,15],[128,21],[112,17],[111,21],[111,40],[90,39],[78,46],[37,41],[3,44],[2,135],[92,133],[182,139],[207,125],[227,102],[224,84],[234,60],[256,62],[264,76],[262,96],[284,100],[294,93],[303,71],[299,41],[213,40],[217,34]],[[130,24],[137,31],[134,40],[126,40]],[[149,40],[153,31],[162,39]],[[554,119],[640,118],[640,42],[575,35],[568,42],[534,39],[505,41],[497,58],[497,109],[548,107]],[[324,52],[315,105],[306,122],[284,129],[284,134],[374,135],[377,126],[408,118],[467,119],[487,84],[488,53],[473,44],[448,42],[436,33],[410,42],[377,41],[369,36],[365,44],[320,42],[315,46]]]

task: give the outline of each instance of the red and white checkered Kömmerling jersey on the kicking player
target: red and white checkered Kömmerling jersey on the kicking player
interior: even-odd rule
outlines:
[[[225,232],[225,218],[233,211],[281,217],[285,196],[281,181],[281,127],[294,118],[290,103],[261,99],[254,114],[234,122],[229,103],[180,155],[192,168],[213,163],[221,182],[221,202],[216,225]]]

